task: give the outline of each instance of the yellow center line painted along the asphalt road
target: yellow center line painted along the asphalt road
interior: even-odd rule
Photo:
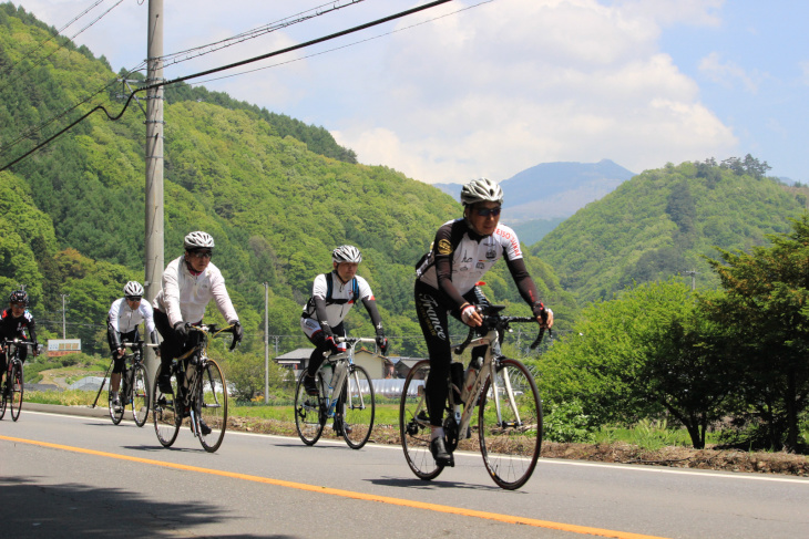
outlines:
[[[129,455],[117,455],[115,453],[98,452],[94,449],[85,449],[83,447],[73,447],[69,445],[51,444],[49,442],[39,442],[33,439],[14,438],[11,436],[0,436],[0,439],[9,442],[16,442],[18,444],[37,445],[41,447],[49,447],[51,449],[61,449],[73,453],[82,453],[84,455],[95,455],[100,457],[116,458],[119,460],[130,460],[132,463],[150,464],[153,466],[163,466],[165,468],[182,469],[185,471],[197,471],[201,474],[209,474],[221,477],[228,477],[232,479],[242,479],[253,483],[263,483],[266,485],[274,485],[277,487],[295,488],[298,490],[307,490],[310,493],[329,494],[331,496],[341,496],[344,498],[352,498],[365,501],[378,501],[380,504],[388,504],[392,506],[410,507],[414,509],[426,509],[436,512],[446,512],[449,515],[460,515],[463,517],[475,517],[488,520],[496,520],[505,524],[521,524],[524,526],[533,526],[536,528],[546,528],[552,530],[569,531],[572,533],[584,533],[590,536],[598,537],[612,537],[615,539],[664,539],[656,536],[645,536],[642,533],[631,533],[626,531],[613,531],[601,528],[591,528],[587,526],[576,526],[563,522],[552,522],[550,520],[537,520],[534,518],[514,517],[511,515],[501,515],[498,512],[477,511],[474,509],[464,509],[461,507],[442,506],[437,504],[427,504],[423,501],[413,501],[408,499],[391,498],[389,496],[378,496],[373,494],[355,493],[351,490],[342,490],[339,488],[318,487],[316,485],[306,485],[304,483],[285,481],[283,479],[270,479],[268,477],[259,477],[247,474],[238,474],[235,471],[225,471],[221,469],[201,468],[197,466],[188,466],[185,464],[165,463],[162,460],[152,460],[150,458],[132,457]]]

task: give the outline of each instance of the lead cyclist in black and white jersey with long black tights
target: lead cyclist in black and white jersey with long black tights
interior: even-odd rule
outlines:
[[[448,313],[472,328],[483,322],[477,305],[488,301],[477,282],[505,258],[520,296],[543,326],[553,325],[553,312],[540,301],[536,284],[525,268],[516,234],[500,224],[503,190],[488,179],[474,179],[461,189],[463,217],[442,225],[430,251],[416,266],[416,311],[430,356],[426,394],[430,416],[430,450],[439,465],[451,465],[442,427],[447,380],[452,355]],[[473,362],[478,357],[472,351]]]

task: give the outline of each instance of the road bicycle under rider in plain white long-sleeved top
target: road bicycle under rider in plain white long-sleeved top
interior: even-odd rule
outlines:
[[[177,439],[183,419],[188,417],[191,432],[208,453],[222,445],[227,429],[227,384],[219,365],[208,357],[208,341],[233,333],[233,350],[236,345],[235,326],[218,329],[213,324],[190,325],[191,338],[196,344],[171,364],[170,392],[161,391],[157,381],[163,366],[152,384],[154,396],[152,421],[157,439],[164,447],[171,447]]]

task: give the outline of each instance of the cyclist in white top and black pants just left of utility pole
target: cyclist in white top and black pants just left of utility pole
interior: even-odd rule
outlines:
[[[121,406],[119,388],[121,387],[121,373],[124,369],[123,342],[136,342],[139,339],[137,326],[146,322],[146,333],[153,344],[158,344],[157,332],[154,326],[154,314],[152,305],[143,298],[143,287],[137,281],[130,281],[124,286],[124,297],[112,302],[110,312],[106,314],[106,340],[110,343],[112,353],[112,375],[110,376],[110,391],[112,392],[113,406]]]

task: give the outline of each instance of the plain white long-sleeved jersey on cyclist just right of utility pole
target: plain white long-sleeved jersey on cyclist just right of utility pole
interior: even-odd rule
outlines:
[[[225,278],[213,262],[194,276],[185,263],[185,255],[172,260],[163,272],[163,287],[152,307],[168,317],[172,328],[180,322],[197,323],[205,314],[205,307],[214,299],[227,323],[238,322]],[[165,338],[165,335],[163,335]]]

